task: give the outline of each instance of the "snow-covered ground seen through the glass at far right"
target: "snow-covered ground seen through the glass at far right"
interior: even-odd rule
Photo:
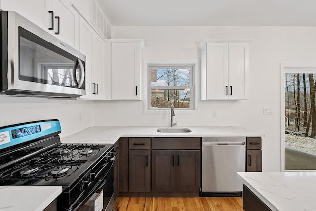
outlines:
[[[316,155],[316,140],[313,138],[285,134],[285,145]]]

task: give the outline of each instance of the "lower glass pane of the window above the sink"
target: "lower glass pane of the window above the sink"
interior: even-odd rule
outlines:
[[[190,89],[184,90],[151,90],[151,107],[170,108],[171,102],[175,108],[190,108]],[[171,102],[170,102],[171,101]]]

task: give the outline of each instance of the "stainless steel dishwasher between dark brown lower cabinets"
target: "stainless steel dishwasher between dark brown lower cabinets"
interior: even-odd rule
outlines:
[[[201,196],[241,196],[237,172],[246,169],[246,137],[202,138]]]

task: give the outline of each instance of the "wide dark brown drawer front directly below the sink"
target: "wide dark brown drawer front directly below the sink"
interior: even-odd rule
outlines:
[[[200,138],[153,138],[152,149],[200,149]]]

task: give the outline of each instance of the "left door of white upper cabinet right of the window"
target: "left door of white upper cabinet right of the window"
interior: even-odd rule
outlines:
[[[228,43],[207,43],[206,48],[206,98],[228,99]]]

